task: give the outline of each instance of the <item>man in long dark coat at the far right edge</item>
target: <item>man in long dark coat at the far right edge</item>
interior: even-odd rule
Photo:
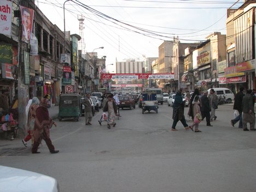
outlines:
[[[248,89],[246,95],[243,97],[242,110],[243,110],[243,131],[249,131],[247,129],[247,123],[250,124],[250,130],[255,131],[255,114],[254,114],[254,101],[252,90]]]

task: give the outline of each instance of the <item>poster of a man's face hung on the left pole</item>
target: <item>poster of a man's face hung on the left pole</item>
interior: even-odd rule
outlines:
[[[23,6],[20,6],[20,10],[22,18],[22,41],[30,43],[34,10]]]

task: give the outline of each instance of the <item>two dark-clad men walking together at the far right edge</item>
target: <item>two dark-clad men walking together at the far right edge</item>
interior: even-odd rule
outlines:
[[[254,112],[254,102],[255,102],[255,90],[246,90],[246,94],[243,93],[245,89],[240,88],[240,91],[235,95],[234,107],[233,109],[238,111],[236,118],[231,120],[231,125],[234,127],[239,121],[238,128],[243,129],[243,131],[249,131],[247,128],[247,123],[250,125],[250,130],[255,131],[255,112]]]

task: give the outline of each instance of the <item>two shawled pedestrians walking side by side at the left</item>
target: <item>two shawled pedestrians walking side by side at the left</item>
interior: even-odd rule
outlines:
[[[27,117],[27,133],[28,135],[22,139],[22,143],[27,147],[27,142],[32,141],[32,153],[37,154],[39,144],[42,140],[45,141],[50,153],[59,153],[55,150],[50,139],[50,129],[57,124],[49,117],[48,98],[43,98],[40,102],[37,97],[33,97],[28,101],[26,106]]]

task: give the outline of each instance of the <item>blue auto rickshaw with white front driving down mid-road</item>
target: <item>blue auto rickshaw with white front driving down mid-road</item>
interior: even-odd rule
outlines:
[[[158,100],[156,99],[156,93],[153,92],[145,92],[142,94],[142,114],[148,110],[154,110],[155,113],[158,113]]]

